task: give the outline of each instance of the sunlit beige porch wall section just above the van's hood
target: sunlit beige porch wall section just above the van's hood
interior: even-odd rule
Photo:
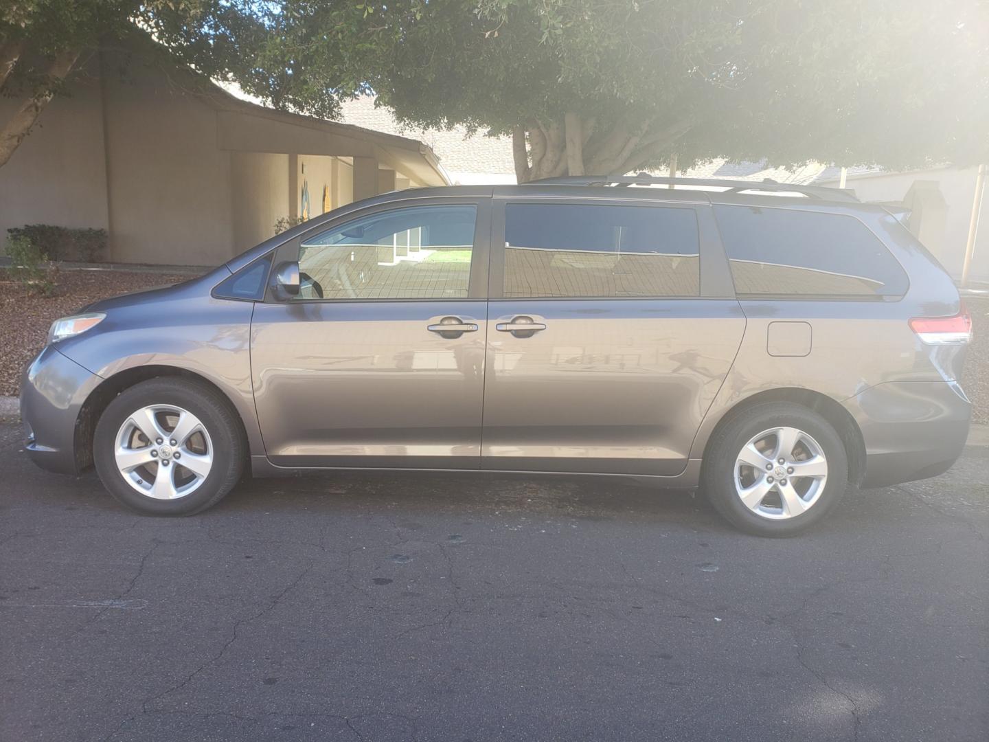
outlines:
[[[289,155],[232,152],[233,253],[275,234],[275,222],[289,215]]]

